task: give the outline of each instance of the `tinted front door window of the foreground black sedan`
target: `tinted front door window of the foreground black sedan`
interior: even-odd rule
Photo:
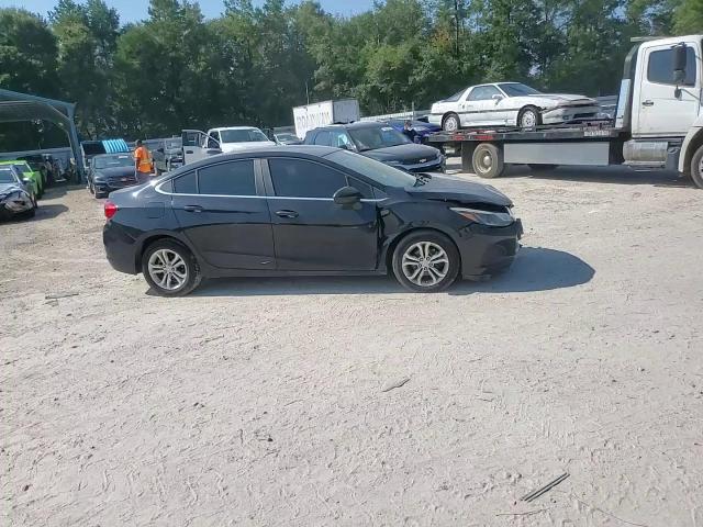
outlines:
[[[268,166],[276,195],[331,199],[347,184],[341,171],[306,159],[272,158]]]

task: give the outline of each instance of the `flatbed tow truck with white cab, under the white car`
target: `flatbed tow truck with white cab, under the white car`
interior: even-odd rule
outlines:
[[[643,38],[625,58],[614,120],[534,128],[438,132],[462,168],[500,177],[509,165],[671,169],[703,188],[703,35]]]

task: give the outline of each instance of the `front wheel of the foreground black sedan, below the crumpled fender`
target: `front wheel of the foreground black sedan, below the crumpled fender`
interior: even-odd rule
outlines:
[[[417,254],[422,254],[424,249],[419,249],[417,247],[420,244],[425,243],[428,244],[428,246],[424,246],[429,254],[428,257],[433,258],[434,256],[440,258],[437,260],[439,264],[435,267],[435,265],[426,261],[425,264],[427,267],[425,267],[424,270],[420,270],[420,277],[413,281],[412,274],[409,277],[406,272],[412,273],[420,267],[424,267],[425,264],[419,262],[417,266],[413,268],[412,266],[414,266],[414,260],[413,264],[409,264],[409,261],[404,261],[404,259],[405,256],[415,257]],[[442,253],[437,250],[437,247],[446,255],[446,267],[444,267],[445,264],[442,259]],[[417,253],[419,250],[420,253]],[[461,258],[459,257],[459,251],[454,243],[447,236],[442,233],[437,233],[436,231],[414,231],[401,239],[393,250],[392,268],[395,280],[398,280],[403,288],[409,289],[410,291],[436,293],[448,288],[459,276],[460,265]],[[444,276],[438,279],[442,273],[444,273]],[[437,281],[433,283],[432,280]],[[420,283],[416,283],[417,281]],[[426,283],[423,284],[423,282]]]

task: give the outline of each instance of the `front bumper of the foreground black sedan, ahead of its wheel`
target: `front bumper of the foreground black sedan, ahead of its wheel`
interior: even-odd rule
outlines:
[[[480,279],[507,269],[517,255],[523,232],[521,220],[506,227],[488,227],[478,223],[465,227],[459,240],[461,276]]]

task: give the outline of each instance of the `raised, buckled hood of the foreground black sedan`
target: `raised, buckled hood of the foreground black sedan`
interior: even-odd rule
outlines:
[[[501,206],[513,204],[510,198],[489,184],[434,173],[425,184],[410,187],[405,191],[409,194],[428,200],[458,201],[467,204],[491,203]]]

